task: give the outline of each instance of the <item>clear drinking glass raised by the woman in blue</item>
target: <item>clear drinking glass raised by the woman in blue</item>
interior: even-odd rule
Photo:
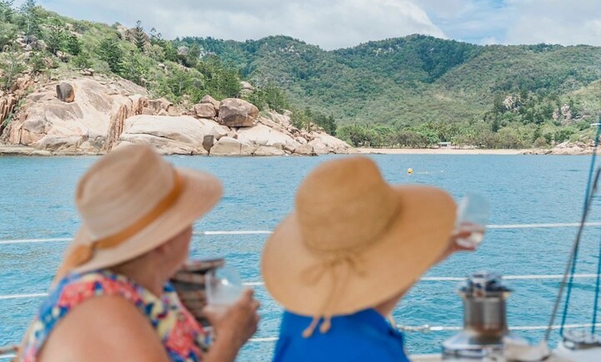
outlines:
[[[457,245],[474,249],[484,238],[484,229],[490,215],[488,200],[484,196],[469,193],[457,204],[455,232],[470,231],[469,236],[457,238]]]

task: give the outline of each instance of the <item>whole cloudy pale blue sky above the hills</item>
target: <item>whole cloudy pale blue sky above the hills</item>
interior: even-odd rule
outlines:
[[[23,0],[15,0],[19,6]],[[473,44],[601,46],[601,0],[37,0],[75,19],[137,20],[166,39],[289,35],[325,50],[432,35]]]

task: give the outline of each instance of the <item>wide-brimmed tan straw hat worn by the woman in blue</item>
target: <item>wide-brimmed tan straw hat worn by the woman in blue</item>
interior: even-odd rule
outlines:
[[[455,202],[435,187],[392,186],[369,158],[324,162],[300,184],[296,208],[265,244],[261,272],[276,301],[325,317],[374,307],[441,256]]]

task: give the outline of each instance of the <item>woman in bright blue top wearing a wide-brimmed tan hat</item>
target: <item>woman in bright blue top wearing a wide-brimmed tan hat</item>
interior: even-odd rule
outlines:
[[[318,166],[263,251],[265,287],[286,309],[274,361],[408,361],[385,316],[459,249],[454,222],[448,193],[391,186],[369,158]]]

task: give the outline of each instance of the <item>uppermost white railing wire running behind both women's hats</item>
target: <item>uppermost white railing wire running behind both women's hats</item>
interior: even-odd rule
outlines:
[[[587,227],[601,227],[601,222],[586,222],[584,224]],[[562,227],[579,227],[580,222],[555,222],[548,224],[506,224],[506,225],[486,225],[486,229],[499,230],[499,229],[548,229],[548,228],[562,228]],[[194,235],[269,235],[269,230],[236,230],[236,231],[194,231]],[[0,245],[11,245],[11,244],[33,244],[39,242],[68,242],[72,238],[44,238],[44,239],[12,239],[12,240],[0,240]]]

